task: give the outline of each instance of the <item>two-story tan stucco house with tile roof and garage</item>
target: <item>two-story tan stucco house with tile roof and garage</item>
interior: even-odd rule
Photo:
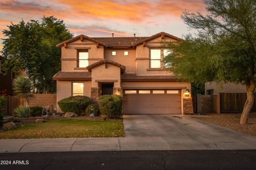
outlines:
[[[169,53],[161,42],[180,38],[165,32],[151,37],[87,37],[63,41],[57,102],[85,95],[97,102],[101,95],[122,95],[124,114],[191,114],[190,82],[163,66]],[[57,107],[57,112],[61,112]]]

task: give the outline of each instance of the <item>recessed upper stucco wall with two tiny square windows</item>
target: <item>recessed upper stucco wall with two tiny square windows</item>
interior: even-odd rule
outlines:
[[[116,52],[116,55],[112,55],[112,52]],[[128,55],[124,55],[124,52],[128,52]],[[126,73],[136,72],[136,49],[107,49],[105,48],[104,56],[106,59],[117,62],[126,66]]]

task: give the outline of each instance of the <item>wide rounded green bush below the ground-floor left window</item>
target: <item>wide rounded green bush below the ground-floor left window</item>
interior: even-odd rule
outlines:
[[[87,96],[71,96],[58,101],[58,105],[62,112],[81,113],[85,111],[89,104],[90,98]]]

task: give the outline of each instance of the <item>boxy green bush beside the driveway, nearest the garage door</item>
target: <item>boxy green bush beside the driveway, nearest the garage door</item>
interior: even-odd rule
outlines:
[[[100,113],[109,118],[122,116],[122,97],[116,95],[102,95],[99,97]]]

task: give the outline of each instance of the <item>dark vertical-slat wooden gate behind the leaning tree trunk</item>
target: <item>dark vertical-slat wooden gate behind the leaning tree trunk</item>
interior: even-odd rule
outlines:
[[[246,101],[245,93],[220,93],[221,113],[242,113]],[[251,112],[255,112],[255,102]]]

